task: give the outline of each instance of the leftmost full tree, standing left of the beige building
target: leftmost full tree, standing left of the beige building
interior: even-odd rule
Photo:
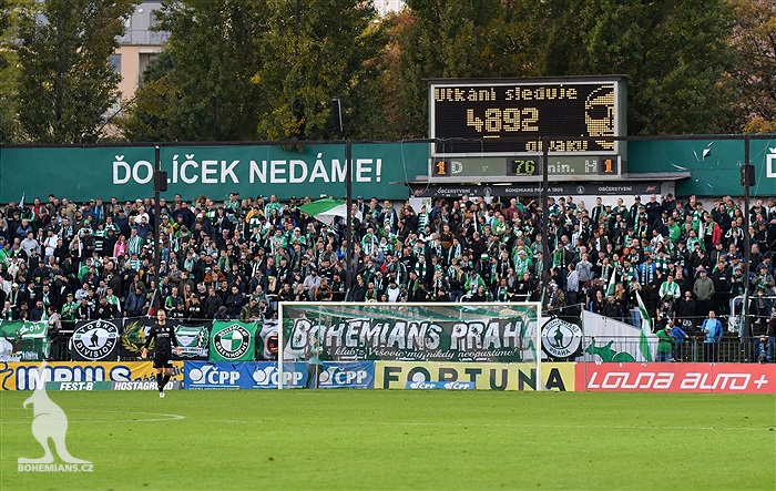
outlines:
[[[120,74],[109,57],[136,0],[29,3],[19,23],[19,121],[40,143],[100,137]]]

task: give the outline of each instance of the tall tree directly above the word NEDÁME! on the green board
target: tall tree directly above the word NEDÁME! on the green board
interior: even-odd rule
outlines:
[[[344,101],[348,136],[371,137],[385,127],[379,114],[377,55],[385,45],[370,2],[268,0],[262,39],[265,62],[254,76],[267,101],[258,135],[269,140],[336,136],[330,100]]]

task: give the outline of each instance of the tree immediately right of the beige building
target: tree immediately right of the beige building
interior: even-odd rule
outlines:
[[[262,64],[264,1],[163,1],[164,55],[149,67],[120,125],[133,141],[254,140],[265,105],[252,76]]]

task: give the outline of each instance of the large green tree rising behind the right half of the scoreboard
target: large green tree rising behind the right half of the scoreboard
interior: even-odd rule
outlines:
[[[631,134],[731,130],[733,14],[724,0],[547,0],[543,7],[539,74],[626,74]]]

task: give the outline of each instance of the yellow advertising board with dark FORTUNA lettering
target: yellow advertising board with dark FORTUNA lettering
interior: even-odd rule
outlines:
[[[542,364],[544,387],[573,391],[575,364]],[[480,390],[537,390],[533,364],[467,364],[439,361],[376,361],[375,388],[407,389],[412,382],[472,382]],[[433,387],[429,387],[433,388]],[[457,387],[450,387],[456,389]]]

